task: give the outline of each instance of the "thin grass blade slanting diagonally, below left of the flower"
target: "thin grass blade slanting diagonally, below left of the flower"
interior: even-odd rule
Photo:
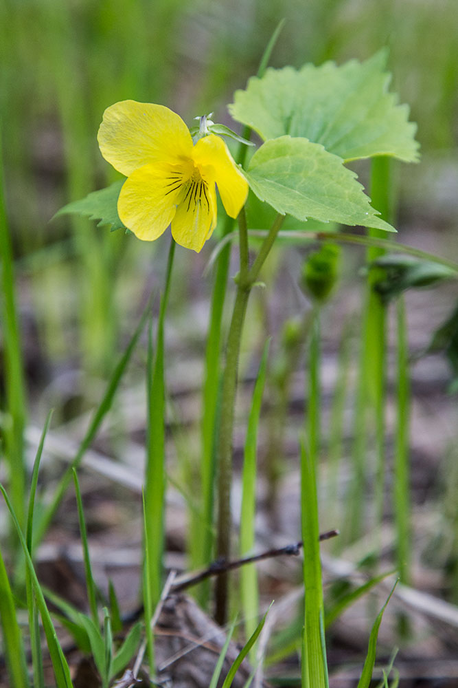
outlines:
[[[109,380],[108,385],[106,387],[106,391],[102,398],[102,401],[100,402],[98,409],[95,410],[91,423],[89,424],[89,428],[87,429],[87,432],[80,444],[80,447],[78,448],[78,452],[76,453],[75,458],[73,459],[73,461],[65,471],[64,475],[62,476],[54,492],[54,497],[51,499],[51,504],[49,504],[49,506],[47,507],[47,510],[45,511],[41,521],[36,527],[33,548],[36,548],[36,546],[41,542],[41,539],[43,539],[43,535],[45,535],[47,528],[49,527],[49,524],[51,523],[51,520],[53,519],[54,514],[58,509],[60,500],[65,495],[65,491],[67,490],[67,487],[71,482],[73,469],[78,468],[78,466],[80,465],[84,453],[87,451],[87,449],[89,449],[91,442],[95,438],[95,434],[100,428],[102,420],[111,408],[113,398],[115,396],[115,392],[117,390],[119,382],[122,376],[124,375],[124,372],[126,371],[127,364],[130,361],[130,357],[132,356],[133,351],[135,350],[135,346],[137,345],[139,336],[146,323],[148,313],[150,312],[150,302],[151,300],[148,301],[148,304],[146,305],[143,314],[141,314],[139,323],[135,329],[135,332],[133,333],[133,336],[130,338],[130,341],[126,347],[126,350],[124,351],[124,354],[122,354],[122,356],[119,358],[119,361],[113,371],[111,379]]]

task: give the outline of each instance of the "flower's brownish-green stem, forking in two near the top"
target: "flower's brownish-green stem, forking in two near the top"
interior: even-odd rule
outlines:
[[[240,272],[237,280],[236,301],[233,306],[231,325],[227,338],[226,363],[222,378],[221,418],[218,436],[218,559],[229,560],[231,555],[231,485],[232,485],[232,436],[237,391],[238,358],[247,303],[253,283],[273,246],[283,216],[277,216],[264,239],[253,267],[249,270],[247,251],[247,222],[244,210],[238,216],[240,233]],[[223,625],[227,617],[227,574],[216,581],[216,621]]]

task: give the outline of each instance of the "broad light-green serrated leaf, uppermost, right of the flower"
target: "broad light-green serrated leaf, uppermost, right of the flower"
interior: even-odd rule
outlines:
[[[386,59],[380,51],[340,67],[326,62],[267,69],[262,79],[252,77],[247,89],[236,91],[229,111],[264,140],[289,134],[321,143],[343,160],[392,155],[415,162],[416,125],[408,121],[407,105],[388,92]]]

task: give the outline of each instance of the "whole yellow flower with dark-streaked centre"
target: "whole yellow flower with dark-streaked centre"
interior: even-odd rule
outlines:
[[[127,177],[119,218],[144,241],[154,241],[172,223],[177,244],[200,251],[216,226],[215,185],[231,217],[247,200],[247,180],[225,142],[209,134],[194,145],[185,122],[163,105],[111,105],[98,142],[105,160]]]

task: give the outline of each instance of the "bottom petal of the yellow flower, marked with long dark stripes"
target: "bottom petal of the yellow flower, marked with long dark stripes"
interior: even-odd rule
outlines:
[[[177,244],[199,252],[216,227],[215,185],[191,182],[172,219],[172,236]]]

